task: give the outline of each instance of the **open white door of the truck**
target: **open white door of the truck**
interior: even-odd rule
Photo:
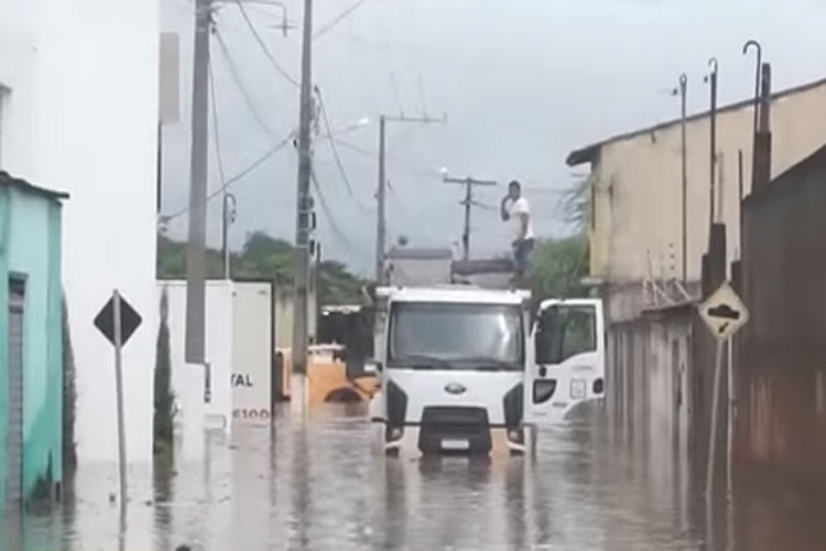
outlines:
[[[548,300],[532,328],[526,418],[563,421],[578,403],[605,392],[605,321],[598,299]],[[530,356],[529,356],[530,357]]]

